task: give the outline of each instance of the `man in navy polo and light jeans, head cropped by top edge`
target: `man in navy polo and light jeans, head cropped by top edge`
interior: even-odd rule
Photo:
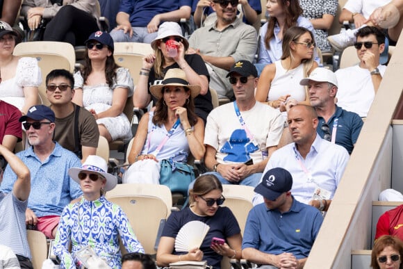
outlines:
[[[189,19],[191,10],[192,0],[122,0],[110,36],[115,42],[151,43],[161,23]]]

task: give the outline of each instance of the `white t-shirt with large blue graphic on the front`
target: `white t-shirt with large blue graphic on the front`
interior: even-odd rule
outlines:
[[[259,163],[263,161],[262,150],[279,144],[284,124],[279,111],[256,101],[253,108],[240,114],[253,141],[242,129],[233,103],[219,106],[208,114],[204,144],[217,150],[219,163],[244,163],[250,158]]]

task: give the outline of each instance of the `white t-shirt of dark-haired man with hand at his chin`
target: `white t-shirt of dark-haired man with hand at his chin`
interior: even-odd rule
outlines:
[[[378,69],[384,76],[386,65],[378,65]],[[370,71],[354,65],[339,69],[335,74],[338,81],[337,105],[366,117],[375,98]]]

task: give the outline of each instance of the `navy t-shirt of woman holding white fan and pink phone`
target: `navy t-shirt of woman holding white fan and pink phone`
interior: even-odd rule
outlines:
[[[215,215],[201,217],[193,213],[190,208],[178,212],[172,212],[163,229],[162,236],[176,238],[179,230],[183,225],[192,221],[199,220],[210,226],[200,250],[204,253],[203,260],[206,260],[209,266],[213,268],[221,268],[220,263],[222,255],[217,254],[211,247],[211,239],[213,237],[226,239],[228,237],[240,234],[240,227],[231,210],[225,206],[219,206]],[[228,243],[228,242],[227,242]],[[176,252],[173,254],[186,254],[184,252]]]

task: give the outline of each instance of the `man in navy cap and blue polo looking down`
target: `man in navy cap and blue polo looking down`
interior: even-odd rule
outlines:
[[[323,217],[291,195],[293,177],[283,168],[268,170],[255,188],[264,203],[247,217],[242,258],[267,269],[303,268]]]

